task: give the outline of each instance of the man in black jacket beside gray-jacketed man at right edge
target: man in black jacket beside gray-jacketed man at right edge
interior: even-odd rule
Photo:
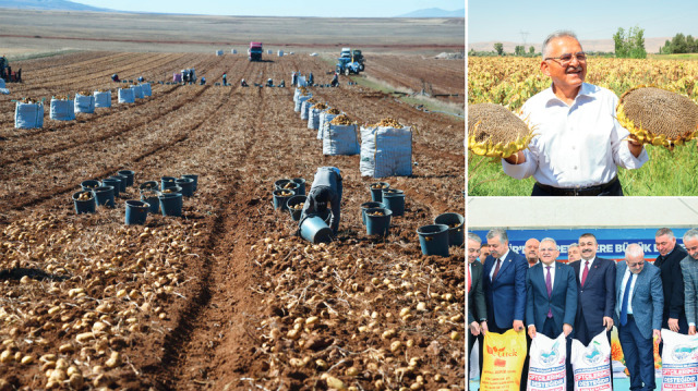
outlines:
[[[688,253],[682,246],[676,245],[674,232],[669,228],[661,228],[657,231],[654,243],[659,249],[659,257],[654,260],[654,266],[661,272],[662,288],[664,289],[662,328],[687,334],[688,321],[686,321],[686,311],[684,310],[684,273],[681,270],[681,261],[688,256]]]

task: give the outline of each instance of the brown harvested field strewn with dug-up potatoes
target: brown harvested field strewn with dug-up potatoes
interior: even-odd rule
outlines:
[[[416,127],[413,174],[381,179],[405,192],[405,216],[369,236],[360,204],[377,180],[360,175],[358,155],[323,156],[293,88],[253,85],[290,85],[297,70],[329,83],[332,66],[266,58],[96,51],[12,63],[24,83],[0,95],[0,390],[465,389],[465,252],[423,256],[417,234],[441,213],[465,216],[464,120],[345,76],[310,88],[360,124]],[[452,91],[464,62],[445,61],[392,73]],[[207,84],[158,83],[189,68]],[[224,72],[232,86],[214,85]],[[155,82],[153,95],[118,103],[125,84],[112,73]],[[111,89],[111,108],[49,119],[51,96],[98,88]],[[25,97],[46,98],[41,129],[14,129],[11,99]],[[284,178],[310,188],[323,166],[342,172],[342,213],[337,240],[313,245],[272,191]],[[124,169],[135,186],[116,208],[75,213],[82,181]],[[137,184],[182,174],[198,174],[198,188],[181,218],[124,224]]]

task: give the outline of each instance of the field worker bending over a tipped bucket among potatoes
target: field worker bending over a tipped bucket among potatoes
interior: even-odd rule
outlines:
[[[315,172],[315,179],[313,185],[308,192],[308,198],[303,210],[301,211],[301,219],[308,215],[321,215],[327,209],[332,211],[332,219],[329,220],[329,228],[333,234],[337,235],[337,229],[339,228],[340,211],[339,205],[341,203],[341,174],[336,167],[321,167]]]

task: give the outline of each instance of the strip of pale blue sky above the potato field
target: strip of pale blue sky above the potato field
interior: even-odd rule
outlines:
[[[245,16],[390,17],[426,8],[454,11],[464,0],[73,0],[119,11]]]

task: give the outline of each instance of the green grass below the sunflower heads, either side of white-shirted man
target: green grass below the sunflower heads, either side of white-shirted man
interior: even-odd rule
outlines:
[[[626,196],[698,196],[698,149],[689,142],[670,151],[646,146],[650,160],[639,170],[621,169],[618,178]],[[519,181],[502,171],[500,159],[468,152],[468,195],[530,196],[532,178]]]

